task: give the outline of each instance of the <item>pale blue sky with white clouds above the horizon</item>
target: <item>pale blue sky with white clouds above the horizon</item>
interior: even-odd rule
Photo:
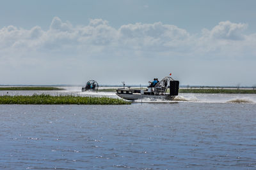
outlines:
[[[0,85],[255,86],[256,1],[0,1]]]

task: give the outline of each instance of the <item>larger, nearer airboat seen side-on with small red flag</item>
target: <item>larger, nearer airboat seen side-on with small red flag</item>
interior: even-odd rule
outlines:
[[[166,76],[156,83],[154,87],[148,86],[147,89],[131,89],[123,87],[116,90],[116,95],[126,100],[138,100],[148,98],[152,101],[157,99],[172,101],[179,94],[179,81],[170,76]]]

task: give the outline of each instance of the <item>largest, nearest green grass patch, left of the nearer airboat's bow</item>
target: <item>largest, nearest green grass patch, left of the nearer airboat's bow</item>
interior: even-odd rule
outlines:
[[[0,104],[131,104],[123,99],[109,97],[50,96],[0,96]]]

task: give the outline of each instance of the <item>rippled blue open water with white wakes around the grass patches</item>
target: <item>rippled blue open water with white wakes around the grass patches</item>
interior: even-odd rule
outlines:
[[[64,93],[115,97],[79,90]],[[42,92],[8,92],[17,93]],[[0,169],[256,169],[255,101],[180,94],[171,103],[0,105]]]

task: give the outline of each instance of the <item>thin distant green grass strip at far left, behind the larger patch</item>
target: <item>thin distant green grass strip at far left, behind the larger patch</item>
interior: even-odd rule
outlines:
[[[0,87],[0,90],[65,90],[58,87]]]

